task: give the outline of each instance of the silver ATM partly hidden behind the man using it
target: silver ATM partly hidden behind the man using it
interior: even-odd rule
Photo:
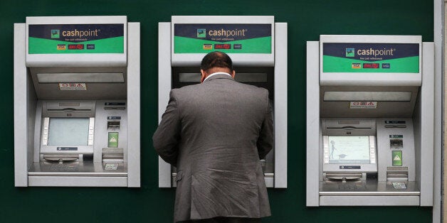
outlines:
[[[270,92],[275,148],[261,160],[268,187],[287,187],[287,23],[273,16],[172,16],[159,23],[159,121],[172,88],[200,83],[206,53],[230,55],[236,81]],[[159,187],[175,187],[175,168],[159,158]]]

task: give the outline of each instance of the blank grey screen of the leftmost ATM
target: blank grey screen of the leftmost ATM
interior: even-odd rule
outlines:
[[[50,118],[48,146],[87,146],[89,118]]]

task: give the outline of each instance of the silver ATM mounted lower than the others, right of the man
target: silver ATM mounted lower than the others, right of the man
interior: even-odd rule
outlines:
[[[433,206],[433,43],[307,42],[307,206]]]

